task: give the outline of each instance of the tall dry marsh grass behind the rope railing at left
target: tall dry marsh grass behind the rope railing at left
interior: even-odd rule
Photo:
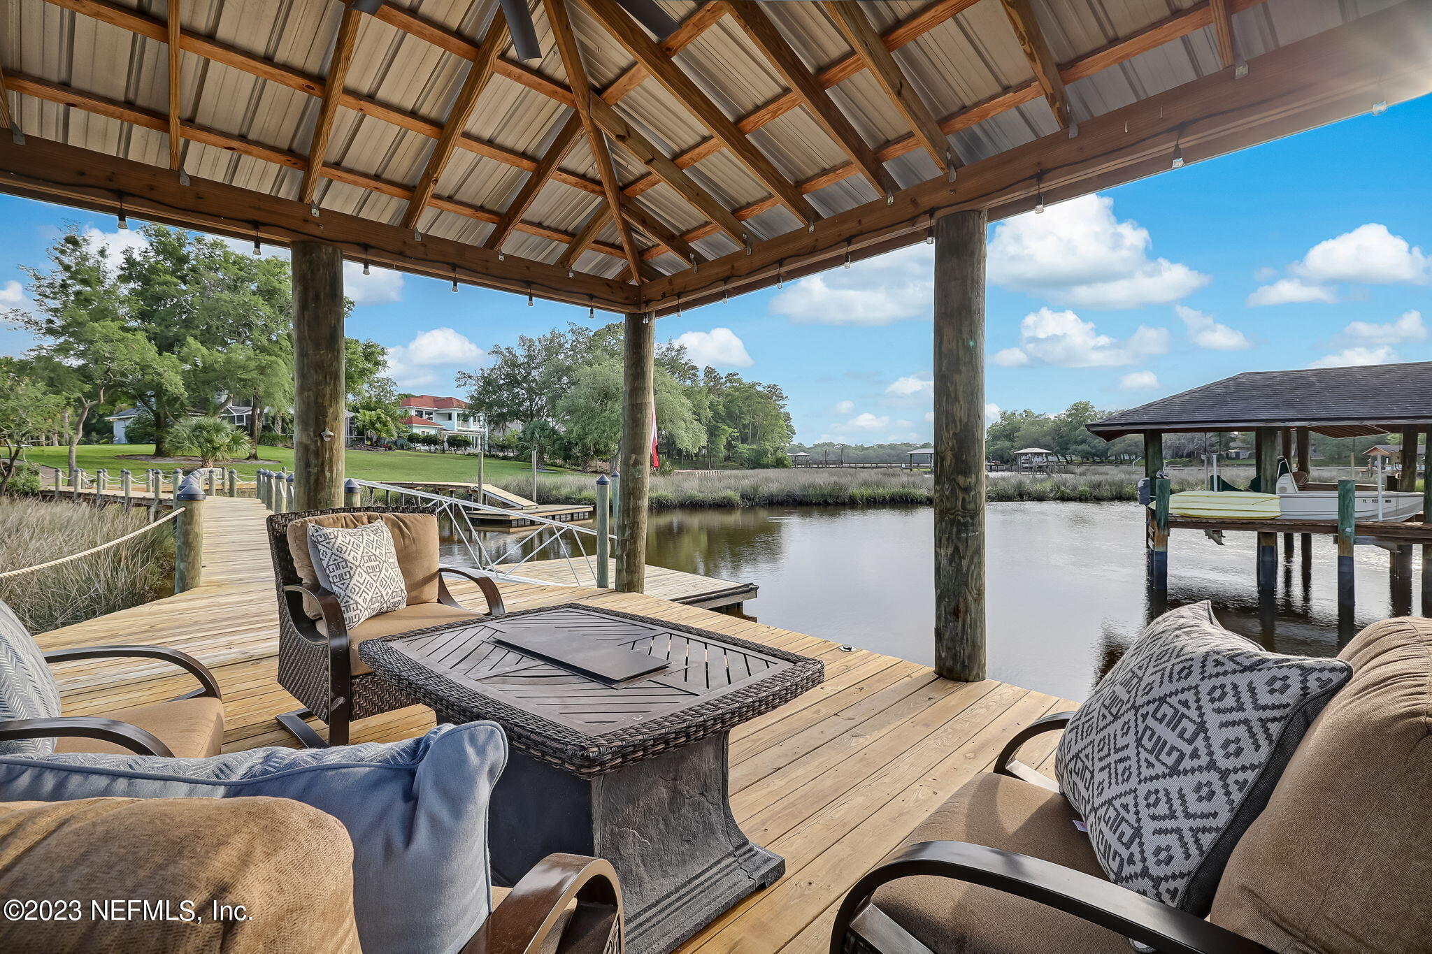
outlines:
[[[0,498],[0,572],[107,544],[149,522],[147,511]],[[173,589],[175,548],[162,526],[93,556],[0,579],[0,599],[30,632],[136,606]],[[115,642],[125,642],[116,634]]]

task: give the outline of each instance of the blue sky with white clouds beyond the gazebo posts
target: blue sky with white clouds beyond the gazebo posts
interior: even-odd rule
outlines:
[[[1432,359],[1432,97],[991,226],[987,400],[1126,408],[1242,370]],[[23,305],[66,222],[0,196],[0,306]],[[663,318],[693,358],[776,382],[796,439],[924,441],[932,249],[916,245]],[[349,269],[348,333],[394,349],[405,390],[455,393],[485,349],[586,309]],[[597,313],[599,322],[616,316]],[[0,353],[27,338],[0,328]],[[992,412],[992,408],[990,409]]]

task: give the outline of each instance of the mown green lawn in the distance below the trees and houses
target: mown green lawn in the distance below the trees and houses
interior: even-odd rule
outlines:
[[[105,468],[110,476],[119,479],[119,472],[129,468],[136,475],[152,466],[173,469],[182,466],[190,469],[192,463],[153,463],[149,461],[132,461],[122,455],[153,453],[152,443],[83,443],[79,448],[76,463],[93,473]],[[67,466],[67,448],[30,448],[26,459],[30,463],[43,466]],[[241,479],[253,476],[259,466],[278,469],[286,466],[294,469],[294,451],[291,448],[259,448],[259,456],[278,463],[255,465],[239,462],[233,466]],[[430,453],[425,451],[347,451],[344,453],[344,472],[347,476],[359,481],[477,481],[477,458],[467,453]],[[523,461],[505,461],[487,458],[484,476],[488,482],[530,475],[531,466]]]

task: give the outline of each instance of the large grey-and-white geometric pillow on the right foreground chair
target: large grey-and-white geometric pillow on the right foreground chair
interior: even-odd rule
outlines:
[[[1070,719],[1060,790],[1114,884],[1204,915],[1342,659],[1269,652],[1209,602],[1154,619]]]

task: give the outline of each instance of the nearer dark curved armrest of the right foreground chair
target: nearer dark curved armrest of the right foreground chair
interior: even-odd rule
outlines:
[[[1267,948],[1246,937],[1091,874],[964,841],[906,845],[856,881],[835,917],[831,954],[842,954],[851,921],[876,888],[911,875],[967,881],[1038,901],[1161,954],[1267,954]]]

